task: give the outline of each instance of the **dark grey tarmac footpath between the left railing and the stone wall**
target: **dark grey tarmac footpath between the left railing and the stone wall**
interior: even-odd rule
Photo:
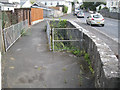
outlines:
[[[45,25],[32,26],[3,56],[3,88],[94,87],[82,57],[48,50]]]

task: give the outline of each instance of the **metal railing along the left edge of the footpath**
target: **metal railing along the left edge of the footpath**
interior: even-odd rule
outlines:
[[[28,28],[28,20],[19,22],[8,28],[3,29],[5,50],[8,49],[21,37],[22,32],[25,32]]]

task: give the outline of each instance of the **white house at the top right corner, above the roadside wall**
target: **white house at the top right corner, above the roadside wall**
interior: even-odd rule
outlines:
[[[110,12],[119,12],[120,0],[107,0],[106,6],[109,8]]]

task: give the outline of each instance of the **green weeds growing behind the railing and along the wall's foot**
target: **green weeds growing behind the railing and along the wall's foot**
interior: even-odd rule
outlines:
[[[51,27],[52,28],[66,28],[67,27],[67,20],[61,20],[59,19],[59,22],[51,22]],[[66,40],[65,36],[68,35],[67,30],[61,29],[61,30],[54,30],[54,40]],[[51,36],[52,37],[52,36]],[[72,40],[72,35],[69,36],[69,38]],[[69,39],[68,39],[69,40]],[[52,40],[51,40],[52,42]],[[52,44],[52,43],[51,43]],[[53,48],[53,47],[52,47]],[[84,56],[85,61],[88,64],[88,68],[90,69],[91,73],[94,74],[94,70],[92,68],[90,56],[84,49],[77,48],[72,45],[71,42],[54,42],[54,50],[57,51],[66,51],[74,54],[77,57]],[[65,68],[63,69],[64,71],[66,70]]]

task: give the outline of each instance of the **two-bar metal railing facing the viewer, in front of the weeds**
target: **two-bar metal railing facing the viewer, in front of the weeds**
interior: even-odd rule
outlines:
[[[80,30],[82,30],[80,28]],[[53,28],[52,48],[53,51],[70,50],[72,47],[82,48],[83,33],[78,28]]]

